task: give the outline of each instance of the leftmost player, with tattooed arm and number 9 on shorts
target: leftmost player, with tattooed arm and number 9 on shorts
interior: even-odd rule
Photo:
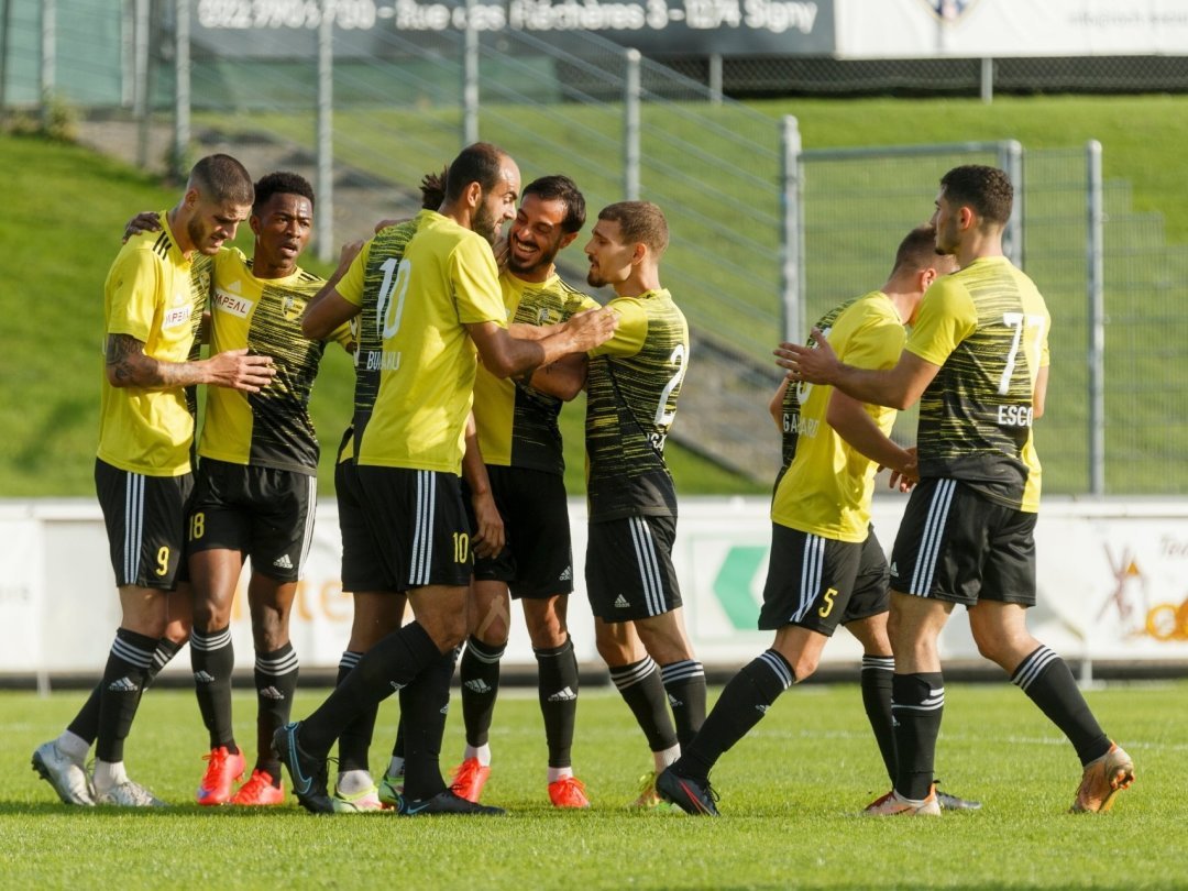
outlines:
[[[191,286],[191,263],[233,239],[251,204],[244,165],[208,156],[190,171],[177,207],[160,215],[162,232],[131,239],[108,272],[95,486],[120,592],[120,627],[99,695],[33,753],[33,767],[70,804],[162,804],[128,778],[124,741],[141,691],[189,626],[189,584],[178,571],[192,489],[194,416],[184,388],[211,384],[254,393],[273,374],[268,356],[245,349],[195,360],[206,293]],[[88,777],[84,725],[94,726],[96,714],[95,772]]]

